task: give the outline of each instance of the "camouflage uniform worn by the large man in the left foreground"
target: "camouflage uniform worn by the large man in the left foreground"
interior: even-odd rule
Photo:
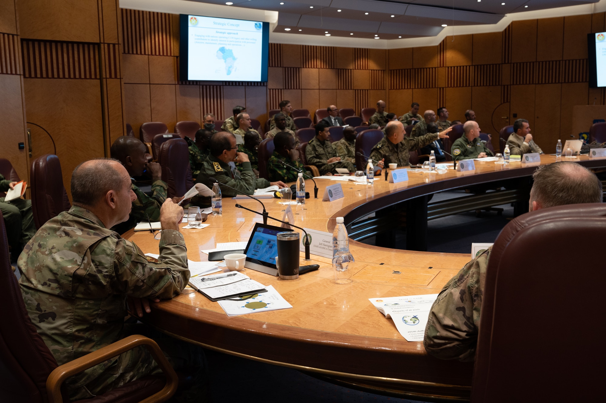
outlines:
[[[179,231],[162,231],[158,260],[73,206],[48,220],[19,257],[19,285],[36,331],[59,365],[125,336],[126,297],[173,298],[190,277]],[[157,371],[137,348],[65,382],[70,399],[85,399]]]

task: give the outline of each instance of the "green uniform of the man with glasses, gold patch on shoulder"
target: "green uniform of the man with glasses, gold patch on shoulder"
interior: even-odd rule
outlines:
[[[267,179],[255,177],[250,162],[243,162],[242,171],[238,171],[235,165],[232,169],[228,163],[222,162],[217,157],[208,156],[204,161],[204,169],[200,173],[206,178],[214,177],[219,182],[221,194],[228,197],[233,197],[236,194],[253,194],[255,189],[270,186]],[[227,188],[227,186],[221,186],[222,183],[236,188],[238,191]]]

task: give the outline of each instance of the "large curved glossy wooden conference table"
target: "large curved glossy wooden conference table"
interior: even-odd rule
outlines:
[[[588,167],[606,166],[606,159],[581,156],[573,160]],[[553,156],[541,156],[541,163],[554,161]],[[445,174],[409,172],[408,182],[393,184],[381,178],[375,181],[374,189],[341,182],[345,197],[332,202],[322,201],[322,193],[325,186],[337,182],[318,180],[319,197],[314,199],[311,191],[312,198],[295,208],[295,224],[332,232],[336,217],[344,216],[351,222],[419,195],[528,177],[534,169],[536,166],[523,168],[519,162],[509,165],[476,162],[474,172],[453,169]],[[307,189],[313,189],[310,180]],[[263,201],[269,215],[282,218],[284,206],[278,199]],[[209,215],[206,223],[210,226],[182,230],[188,258],[207,260],[199,249],[212,249],[219,242],[248,240],[261,217],[235,208],[236,203],[261,211],[255,200],[224,198],[223,214]],[[268,224],[279,225],[271,219]],[[149,232],[128,232],[125,237],[145,252],[158,253],[158,241]],[[429,356],[422,342],[402,338],[393,321],[379,313],[368,298],[438,293],[470,260],[470,255],[387,249],[356,241],[350,241],[350,249],[356,259],[354,273],[362,269],[368,273],[373,267],[391,273],[393,268],[408,273],[408,278],[354,275],[350,284],[335,284],[331,261],[312,255],[313,263],[318,263],[320,269],[297,280],[280,280],[250,269],[245,272],[266,286],[274,286],[292,309],[228,317],[218,303],[186,289],[173,300],[153,304],[145,321],[210,349],[304,370],[353,387],[380,388],[383,393],[418,399],[468,399],[473,364]],[[303,258],[301,264],[305,264]],[[238,376],[237,371],[233,375]]]

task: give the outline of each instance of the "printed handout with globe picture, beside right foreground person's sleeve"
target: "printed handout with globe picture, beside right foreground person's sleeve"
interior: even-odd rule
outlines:
[[[385,318],[393,319],[396,329],[407,341],[423,341],[429,311],[436,298],[438,294],[368,298],[368,301]]]

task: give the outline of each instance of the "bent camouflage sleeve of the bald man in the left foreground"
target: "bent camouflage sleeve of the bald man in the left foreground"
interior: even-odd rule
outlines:
[[[187,285],[187,248],[179,231],[165,229],[158,259],[145,256],[135,243],[120,238],[114,264],[118,292],[137,298],[173,298]]]

